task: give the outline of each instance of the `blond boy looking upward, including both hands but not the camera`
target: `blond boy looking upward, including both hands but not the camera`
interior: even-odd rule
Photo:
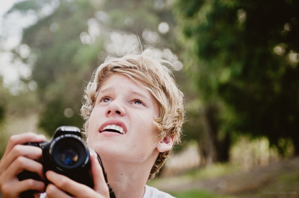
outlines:
[[[149,56],[150,50],[121,58],[108,58],[94,72],[86,87],[81,115],[85,119],[86,142],[102,159],[109,184],[117,198],[165,197],[169,194],[146,185],[164,164],[173,145],[180,142],[184,122],[183,94],[166,67],[167,61]],[[43,182],[18,181],[24,169],[38,173],[34,161],[40,148],[22,145],[39,142],[42,136],[25,133],[12,136],[0,161],[2,196],[19,197],[22,191],[43,191]],[[46,197],[109,197],[109,191],[91,152],[94,189],[48,171],[51,182]]]

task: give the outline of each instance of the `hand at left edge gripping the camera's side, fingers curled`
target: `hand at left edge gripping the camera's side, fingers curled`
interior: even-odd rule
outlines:
[[[23,170],[36,172],[42,179],[43,168],[34,161],[42,156],[42,149],[35,146],[23,145],[26,142],[42,142],[45,136],[34,133],[23,133],[10,137],[6,150],[0,160],[0,191],[3,198],[16,198],[27,190],[42,192],[45,184],[33,179],[19,181],[17,174]]]

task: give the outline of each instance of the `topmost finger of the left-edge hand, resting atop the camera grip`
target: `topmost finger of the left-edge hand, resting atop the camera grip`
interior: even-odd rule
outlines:
[[[13,147],[17,144],[25,144],[26,142],[42,142],[43,140],[46,140],[44,135],[37,135],[37,134],[31,133],[31,132],[23,133],[23,134],[19,134],[19,135],[13,135],[10,137],[10,139],[7,143],[7,147],[3,154],[2,159],[5,158],[5,156],[8,153],[10,153],[10,151],[13,149]]]

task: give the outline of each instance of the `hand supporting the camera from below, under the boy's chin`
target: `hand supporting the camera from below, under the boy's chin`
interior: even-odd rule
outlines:
[[[90,160],[94,189],[54,171],[47,171],[46,177],[51,182],[46,188],[47,198],[70,198],[71,196],[65,192],[68,192],[73,197],[80,198],[109,198],[109,189],[105,182],[102,168],[97,160],[97,154],[94,151],[90,152]]]

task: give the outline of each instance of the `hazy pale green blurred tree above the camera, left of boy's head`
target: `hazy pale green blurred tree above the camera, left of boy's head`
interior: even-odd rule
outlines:
[[[47,1],[24,1],[14,8],[36,8],[38,13],[46,4]],[[90,67],[97,65],[96,51],[103,49],[101,45],[87,47],[80,41],[94,12],[90,1],[60,1],[52,14],[24,30],[22,43],[36,56],[32,77],[38,85],[39,126],[49,134],[61,125],[82,126],[78,110],[83,80],[90,77]]]

